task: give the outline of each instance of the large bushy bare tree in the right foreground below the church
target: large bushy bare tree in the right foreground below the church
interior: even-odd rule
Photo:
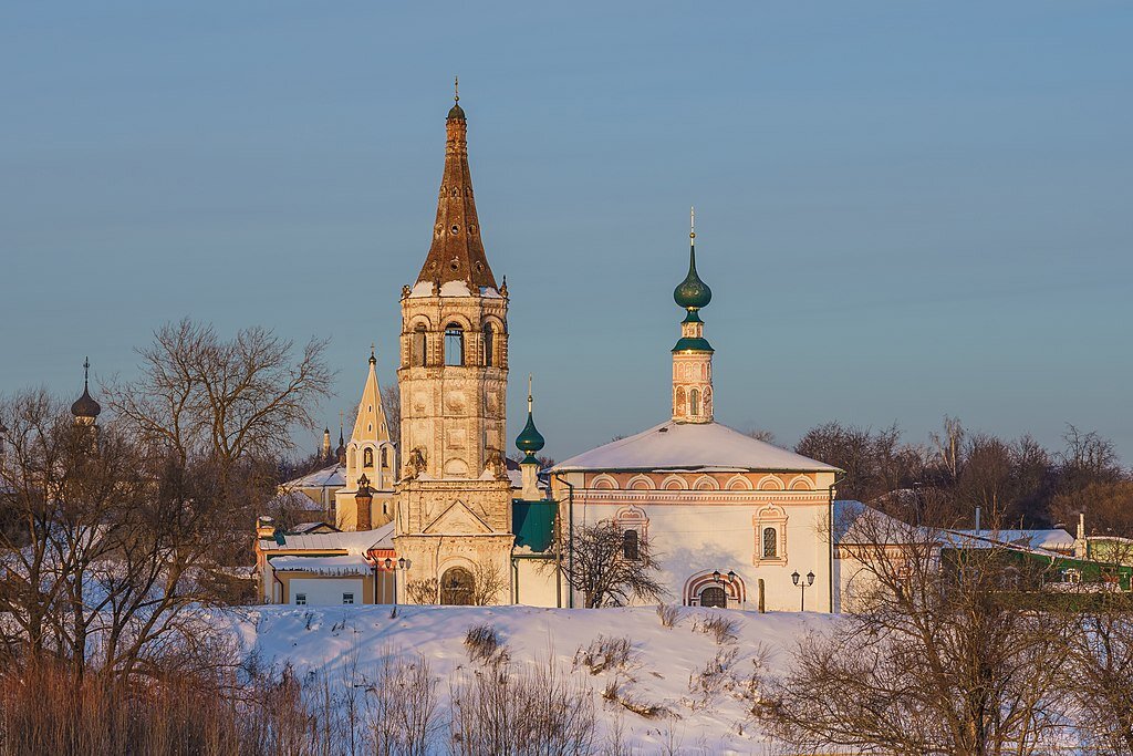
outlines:
[[[860,601],[767,681],[769,731],[811,753],[1049,753],[1070,724],[1057,686],[1065,634],[1014,588],[1039,578],[1026,562],[942,549],[939,532],[868,509],[836,527],[852,534],[840,549],[859,566]]]

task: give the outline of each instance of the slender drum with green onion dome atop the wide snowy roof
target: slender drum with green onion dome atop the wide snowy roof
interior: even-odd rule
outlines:
[[[713,348],[705,339],[699,312],[712,301],[712,289],[697,273],[696,211],[689,213],[689,273],[673,291],[673,299],[685,309],[681,338],[673,347],[673,421],[712,423]]]

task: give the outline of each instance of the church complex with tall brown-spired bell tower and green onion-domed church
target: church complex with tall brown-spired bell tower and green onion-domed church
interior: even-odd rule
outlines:
[[[671,603],[836,611],[841,470],[715,422],[714,349],[700,317],[712,289],[697,271],[695,230],[673,295],[683,320],[671,349],[672,392],[667,402],[658,397],[663,422],[543,470],[529,388],[516,440],[525,458],[512,468],[509,291],[482,241],[467,129],[458,96],[432,245],[401,289],[400,443],[391,441],[372,354],[334,521],[287,533],[261,518],[261,598],[580,606],[562,577],[572,537],[613,523],[621,559],[638,559],[644,542],[658,554]]]

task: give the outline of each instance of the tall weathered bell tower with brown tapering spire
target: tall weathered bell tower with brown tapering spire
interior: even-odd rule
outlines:
[[[449,111],[433,241],[401,291],[401,475],[394,547],[406,585],[436,602],[469,603],[476,576],[508,600],[511,481],[504,461],[508,287],[496,286],[480,240],[468,168],[468,124]],[[408,600],[410,596],[406,595]],[[483,601],[483,597],[480,597]]]

